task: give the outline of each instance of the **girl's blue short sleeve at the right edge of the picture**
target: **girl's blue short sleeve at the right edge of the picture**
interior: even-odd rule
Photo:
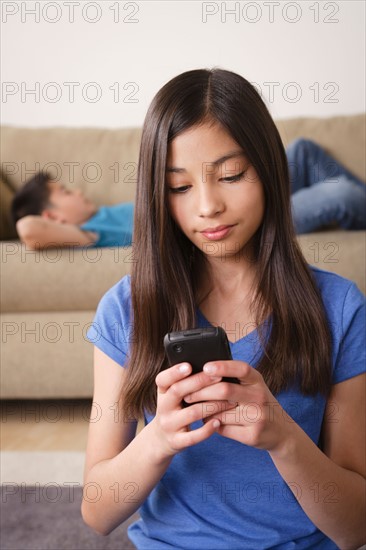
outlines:
[[[366,370],[366,307],[365,297],[351,283],[343,303],[341,339],[333,383],[343,382]]]

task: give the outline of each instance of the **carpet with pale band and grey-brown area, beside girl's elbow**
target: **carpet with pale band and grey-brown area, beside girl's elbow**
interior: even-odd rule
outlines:
[[[1,550],[133,550],[134,514],[103,537],[81,517],[84,453],[3,451]]]

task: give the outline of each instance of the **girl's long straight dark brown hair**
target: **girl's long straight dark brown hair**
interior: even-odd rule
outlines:
[[[271,331],[257,370],[272,393],[298,383],[303,394],[329,394],[331,337],[320,293],[297,244],[286,153],[256,89],[222,69],[193,70],[170,80],[153,99],[143,126],[131,272],[133,338],[124,409],[156,409],[155,377],[166,366],[163,337],[197,325],[197,265],[203,254],[170,216],[165,170],[168,144],[203,121],[219,123],[240,145],[265,193],[256,234],[257,319]],[[258,325],[260,323],[258,322]]]

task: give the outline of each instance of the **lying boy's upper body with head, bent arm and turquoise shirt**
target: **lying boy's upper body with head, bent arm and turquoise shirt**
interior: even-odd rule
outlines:
[[[129,246],[133,203],[97,207],[80,190],[69,190],[39,172],[15,195],[12,217],[29,248]]]

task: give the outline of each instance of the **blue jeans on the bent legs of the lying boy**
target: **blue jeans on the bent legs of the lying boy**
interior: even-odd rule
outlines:
[[[296,233],[336,224],[366,229],[366,185],[308,139],[286,150],[291,183],[291,209]]]

